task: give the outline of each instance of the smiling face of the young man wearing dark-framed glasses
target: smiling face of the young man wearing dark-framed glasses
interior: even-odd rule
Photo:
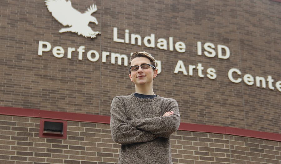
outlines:
[[[146,57],[136,57],[131,61],[131,66],[140,66],[142,64],[150,64],[150,60]],[[152,83],[153,78],[157,76],[157,70],[153,70],[151,66],[148,69],[139,69],[137,71],[131,71],[129,77],[135,85],[143,85]]]

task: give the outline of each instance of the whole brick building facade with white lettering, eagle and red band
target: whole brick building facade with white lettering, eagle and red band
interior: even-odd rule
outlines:
[[[1,163],[118,163],[111,101],[134,93],[128,61],[146,51],[155,94],[179,105],[174,163],[281,164],[280,1],[0,7]],[[66,138],[44,136],[44,121],[64,121]]]

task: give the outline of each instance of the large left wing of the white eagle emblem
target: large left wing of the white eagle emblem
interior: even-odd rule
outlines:
[[[81,12],[72,7],[70,0],[46,0],[45,3],[52,16],[64,26],[72,26],[75,18],[81,16]]]

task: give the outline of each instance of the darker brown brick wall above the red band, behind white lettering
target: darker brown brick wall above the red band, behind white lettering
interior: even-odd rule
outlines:
[[[280,70],[280,2],[275,1],[104,1],[72,0],[80,12],[95,3],[92,14],[101,31],[96,39],[71,32],[59,33],[64,26],[47,10],[44,1],[1,0],[0,33],[0,97],[1,106],[60,112],[106,115],[114,96],[134,92],[128,69],[111,64],[111,57],[102,62],[102,51],[126,54],[147,51],[162,61],[162,72],[154,81],[154,91],[162,97],[177,100],[181,121],[186,123],[229,126],[279,133],[280,92],[230,82],[227,72],[235,67],[242,75],[271,75],[281,80]],[[186,44],[186,52],[160,50],[113,42],[113,27],[119,38],[125,29],[142,38],[151,33],[158,38],[174,37],[174,43]],[[38,42],[61,46],[65,56],[56,58],[49,52],[38,55]],[[197,41],[224,44],[231,55],[218,57],[197,55]],[[67,47],[85,46],[83,60],[78,52],[67,59]],[[100,59],[91,62],[86,52],[94,49]],[[116,59],[117,60],[117,59]],[[178,60],[188,65],[202,63],[205,77],[174,74]],[[217,78],[206,77],[213,67]],[[242,77],[242,76],[237,76]]]

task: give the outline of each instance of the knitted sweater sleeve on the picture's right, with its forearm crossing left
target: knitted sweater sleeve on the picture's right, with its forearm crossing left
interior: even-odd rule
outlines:
[[[169,138],[180,126],[180,113],[178,103],[174,99],[167,99],[164,108],[164,113],[173,111],[174,114],[170,116],[133,119],[128,120],[127,123],[137,129],[149,131],[157,137]]]

